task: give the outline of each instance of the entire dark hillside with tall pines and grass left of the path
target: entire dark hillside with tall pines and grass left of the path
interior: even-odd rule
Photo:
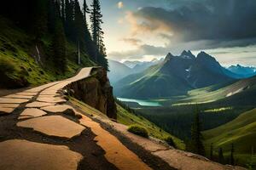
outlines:
[[[108,69],[100,5],[99,0],[91,4],[84,0],[83,5],[78,0],[2,3],[0,87],[55,81],[84,66]]]

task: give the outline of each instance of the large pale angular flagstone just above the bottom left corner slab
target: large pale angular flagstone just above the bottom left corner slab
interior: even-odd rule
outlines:
[[[79,136],[85,127],[62,116],[43,116],[17,123],[18,127],[32,128],[48,136],[72,139]]]

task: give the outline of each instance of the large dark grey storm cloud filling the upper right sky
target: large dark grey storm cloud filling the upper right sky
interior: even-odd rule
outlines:
[[[256,37],[255,0],[182,0],[177,2],[170,0],[169,4],[172,9],[142,8],[135,16],[146,20],[149,25],[156,20],[162,22],[173,32],[173,38],[181,41],[234,42],[234,40]],[[148,27],[148,29],[155,28]],[[249,42],[249,40],[242,40],[242,42]]]

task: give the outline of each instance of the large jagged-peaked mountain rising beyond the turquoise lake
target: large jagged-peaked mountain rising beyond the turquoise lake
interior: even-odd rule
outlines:
[[[114,93],[123,98],[161,98],[185,95],[191,89],[230,82],[238,78],[222,67],[211,55],[191,51],[174,56],[171,53],[158,65],[113,84]]]

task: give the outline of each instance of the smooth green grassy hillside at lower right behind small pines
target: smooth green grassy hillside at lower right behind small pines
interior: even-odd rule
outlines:
[[[216,152],[219,147],[224,149],[224,154],[230,152],[230,145],[235,144],[235,156],[238,161],[247,163],[256,148],[256,109],[242,113],[232,122],[203,133],[205,144],[214,144]],[[255,160],[256,161],[256,160]]]

